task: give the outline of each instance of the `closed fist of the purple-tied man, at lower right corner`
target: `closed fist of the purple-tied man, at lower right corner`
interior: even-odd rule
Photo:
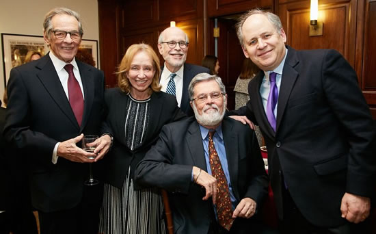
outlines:
[[[342,218],[347,221],[358,224],[363,222],[368,216],[371,209],[371,199],[365,196],[345,193],[340,204]]]

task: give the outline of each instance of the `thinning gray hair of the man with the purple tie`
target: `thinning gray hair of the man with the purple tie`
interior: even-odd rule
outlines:
[[[259,8],[255,8],[252,10],[249,10],[245,14],[241,15],[238,19],[238,23],[235,25],[235,28],[237,29],[237,36],[239,38],[239,42],[241,46],[244,48],[244,41],[243,41],[243,33],[241,31],[244,22],[247,20],[248,17],[252,16],[253,14],[263,14],[264,16],[267,17],[269,22],[274,26],[274,28],[277,30],[278,34],[281,33],[282,29],[282,23],[280,20],[280,17],[278,15],[273,14],[271,12],[265,12],[265,10],[260,10]]]

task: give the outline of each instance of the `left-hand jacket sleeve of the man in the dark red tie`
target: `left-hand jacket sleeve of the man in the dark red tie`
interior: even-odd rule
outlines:
[[[14,68],[10,72],[8,82],[8,107],[4,137],[17,148],[38,148],[39,152],[44,152],[52,157],[57,140],[38,131],[31,131],[30,111],[27,87],[23,82],[22,74]],[[51,160],[51,157],[49,157],[49,160]]]

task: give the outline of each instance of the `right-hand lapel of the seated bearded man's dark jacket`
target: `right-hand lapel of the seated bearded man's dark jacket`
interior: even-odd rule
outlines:
[[[226,158],[228,164],[228,172],[230,173],[230,181],[232,191],[239,199],[238,187],[238,171],[239,171],[239,149],[238,149],[238,134],[232,131],[232,122],[224,118],[222,122],[222,132],[224,135],[224,145],[226,148]]]

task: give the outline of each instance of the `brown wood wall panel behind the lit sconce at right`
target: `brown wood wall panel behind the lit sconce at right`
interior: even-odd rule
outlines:
[[[319,21],[323,22],[323,36],[312,37],[309,36],[310,1],[279,4],[278,14],[287,44],[295,49],[336,49],[355,67],[355,4],[355,0],[321,1]]]

